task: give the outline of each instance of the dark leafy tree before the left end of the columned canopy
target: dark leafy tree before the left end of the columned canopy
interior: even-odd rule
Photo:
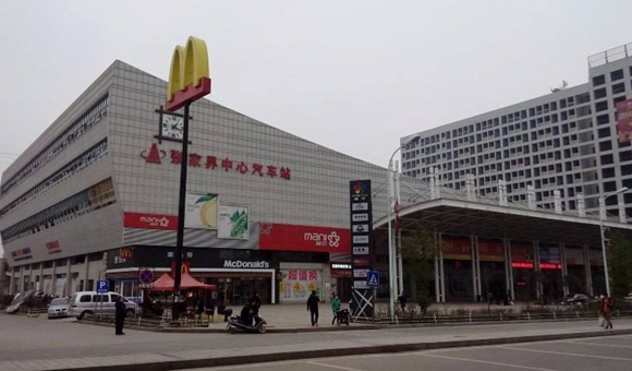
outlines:
[[[412,300],[420,306],[423,312],[433,302],[428,285],[435,272],[434,260],[438,254],[438,249],[434,235],[424,229],[421,223],[417,223],[412,230],[402,236],[400,241],[404,271],[408,273],[410,285],[413,288]]]

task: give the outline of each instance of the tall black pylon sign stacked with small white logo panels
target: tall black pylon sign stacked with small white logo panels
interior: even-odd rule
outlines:
[[[373,318],[373,289],[367,285],[370,270],[370,231],[373,229],[373,206],[370,201],[370,180],[349,182],[351,215],[351,256],[352,256],[352,315]],[[368,258],[368,259],[367,259]]]

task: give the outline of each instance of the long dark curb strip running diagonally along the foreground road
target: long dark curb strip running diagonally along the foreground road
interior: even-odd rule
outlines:
[[[265,363],[276,361],[289,361],[299,359],[315,359],[325,357],[343,357],[343,356],[358,356],[372,354],[388,354],[388,352],[404,352],[430,349],[447,349],[460,347],[488,346],[499,344],[516,344],[516,343],[533,343],[559,340],[567,338],[582,338],[582,337],[600,337],[611,335],[629,335],[632,330],[615,330],[615,331],[595,331],[587,333],[574,334],[554,334],[554,335],[532,335],[519,337],[503,337],[489,339],[472,339],[472,340],[451,340],[442,343],[410,343],[399,345],[377,345],[353,348],[336,348],[336,349],[319,349],[319,350],[302,350],[275,352],[267,355],[246,355],[246,356],[231,356],[218,358],[203,358],[203,359],[186,359],[172,360],[163,362],[147,362],[135,364],[108,364],[96,367],[73,368],[73,371],[136,371],[142,368],[143,371],[169,371],[183,370],[209,367],[224,367],[246,363]],[[53,369],[49,369],[53,370]]]

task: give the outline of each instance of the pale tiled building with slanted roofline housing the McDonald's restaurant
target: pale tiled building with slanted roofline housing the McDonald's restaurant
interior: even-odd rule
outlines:
[[[169,272],[187,161],[184,266],[218,299],[348,296],[349,181],[384,183],[386,169],[206,99],[191,107],[182,158],[166,85],[116,61],[4,171],[11,291],[64,296],[107,278],[135,296],[141,271]]]

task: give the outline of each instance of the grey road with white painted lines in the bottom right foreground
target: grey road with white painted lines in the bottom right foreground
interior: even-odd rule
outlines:
[[[363,355],[274,363],[241,364],[195,369],[195,371],[629,371],[632,370],[632,336],[582,338],[557,342],[512,344]]]

